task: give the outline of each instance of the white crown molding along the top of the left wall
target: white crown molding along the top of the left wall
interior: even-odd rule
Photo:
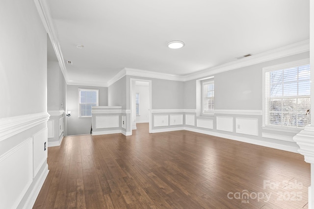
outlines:
[[[64,59],[63,59],[61,47],[60,47],[60,44],[58,41],[58,34],[57,34],[57,31],[55,30],[55,28],[53,26],[52,17],[50,14],[49,6],[47,5],[47,1],[46,0],[34,0],[34,2],[36,5],[36,8],[37,8],[39,17],[40,17],[42,23],[44,24],[44,27],[45,27],[45,29],[46,29],[49,37],[50,37],[52,47],[53,47],[54,53],[58,59],[60,69],[63,73],[65,81],[68,84],[67,69],[66,69],[65,64],[64,64]]]

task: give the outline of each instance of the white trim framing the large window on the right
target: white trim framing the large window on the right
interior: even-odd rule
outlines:
[[[310,58],[302,59],[302,60],[296,60],[288,63],[283,63],[279,65],[274,66],[268,66],[262,68],[262,129],[266,130],[274,130],[274,131],[282,131],[282,132],[292,132],[296,133],[298,131],[303,130],[302,127],[288,127],[288,126],[276,126],[276,125],[266,125],[265,124],[265,116],[266,116],[266,110],[265,110],[265,73],[273,70],[282,70],[287,68],[293,68],[297,66],[302,65],[309,65],[310,64]]]

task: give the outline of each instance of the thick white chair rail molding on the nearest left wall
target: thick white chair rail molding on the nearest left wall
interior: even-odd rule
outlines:
[[[48,113],[37,113],[2,118],[0,119],[0,141],[47,122],[49,117],[50,115]]]

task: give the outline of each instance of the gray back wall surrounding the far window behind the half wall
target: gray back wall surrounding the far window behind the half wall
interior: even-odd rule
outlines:
[[[90,134],[92,117],[78,117],[78,89],[98,89],[99,106],[108,105],[106,87],[67,85],[67,111],[71,111],[71,116],[66,118],[67,136]]]

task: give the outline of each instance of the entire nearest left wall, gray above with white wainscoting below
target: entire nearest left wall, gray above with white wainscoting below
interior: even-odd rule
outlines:
[[[33,0],[1,0],[0,25],[0,208],[32,208],[48,174],[47,33]]]

